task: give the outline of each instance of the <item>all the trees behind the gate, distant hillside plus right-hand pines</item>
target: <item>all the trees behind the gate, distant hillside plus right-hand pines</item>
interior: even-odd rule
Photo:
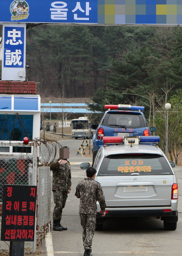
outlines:
[[[46,26],[27,29],[29,81],[43,97],[86,98],[145,106],[149,126],[166,143],[166,102],[171,160],[182,151],[182,29],[174,27]]]

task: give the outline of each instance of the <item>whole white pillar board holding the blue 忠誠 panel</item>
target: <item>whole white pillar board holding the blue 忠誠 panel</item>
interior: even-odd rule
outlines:
[[[25,80],[26,23],[3,23],[2,80]]]

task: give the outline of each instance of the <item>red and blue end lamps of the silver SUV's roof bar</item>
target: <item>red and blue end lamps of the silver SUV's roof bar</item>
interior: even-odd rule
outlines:
[[[137,136],[139,138],[139,143],[159,143],[159,136]],[[124,144],[124,138],[132,139],[129,137],[103,137],[103,144]]]

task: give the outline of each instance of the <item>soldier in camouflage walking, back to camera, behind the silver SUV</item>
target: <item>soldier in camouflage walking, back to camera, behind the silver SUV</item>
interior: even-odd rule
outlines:
[[[92,256],[92,239],[96,228],[96,214],[98,201],[105,216],[105,198],[100,183],[95,181],[96,170],[89,167],[86,170],[87,179],[80,181],[76,188],[75,196],[80,198],[79,214],[83,227],[84,256]]]

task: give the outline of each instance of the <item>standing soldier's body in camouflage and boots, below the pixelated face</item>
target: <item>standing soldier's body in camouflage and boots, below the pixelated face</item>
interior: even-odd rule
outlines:
[[[71,166],[66,160],[56,160],[51,164],[53,171],[53,186],[54,203],[56,204],[53,211],[53,230],[67,230],[61,226],[62,210],[65,206],[66,199],[71,190]]]

